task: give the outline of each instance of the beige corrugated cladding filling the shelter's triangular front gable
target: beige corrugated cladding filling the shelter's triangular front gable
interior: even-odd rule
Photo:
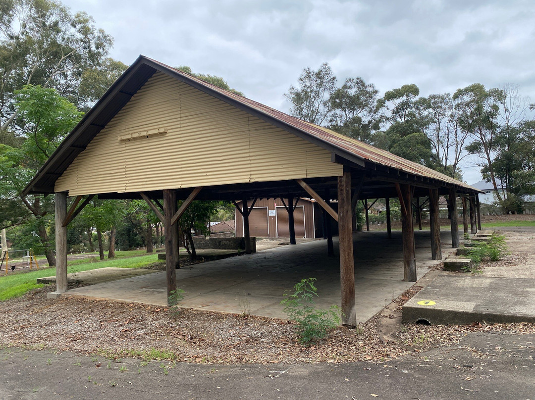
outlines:
[[[167,129],[132,141],[120,135]],[[70,196],[339,176],[331,153],[155,73],[56,181]]]

